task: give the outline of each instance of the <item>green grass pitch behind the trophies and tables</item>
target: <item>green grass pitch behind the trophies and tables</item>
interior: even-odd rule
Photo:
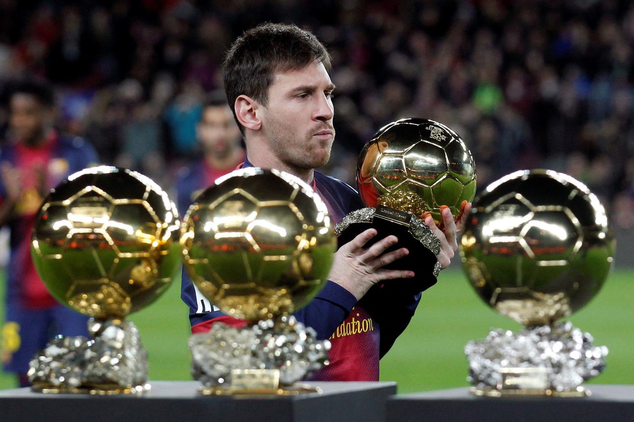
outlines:
[[[3,287],[0,283],[0,290]],[[190,379],[189,323],[179,293],[179,283],[174,283],[155,304],[131,316],[150,354],[150,380]],[[570,318],[592,333],[595,345],[609,347],[607,369],[595,383],[634,383],[633,300],[634,271],[613,271],[597,297]],[[520,326],[484,305],[459,268],[444,271],[382,359],[381,380],[398,381],[399,393],[467,386],[463,347],[486,336],[490,328]],[[0,389],[13,387],[13,378],[0,373]]]

